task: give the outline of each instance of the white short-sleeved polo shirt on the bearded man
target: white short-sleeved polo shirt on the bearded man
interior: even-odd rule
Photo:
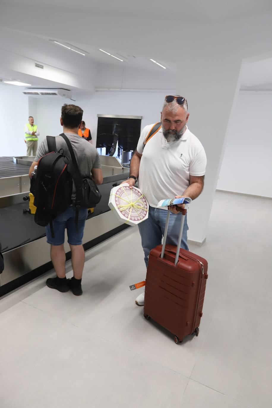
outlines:
[[[187,126],[177,142],[167,142],[160,129],[144,146],[153,126],[142,130],[137,152],[142,154],[139,188],[149,205],[157,207],[160,200],[182,195],[189,186],[190,175],[203,176],[207,159],[202,144]]]

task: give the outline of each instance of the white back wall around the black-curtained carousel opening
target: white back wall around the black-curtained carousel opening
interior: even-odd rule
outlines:
[[[64,103],[74,103],[83,111],[83,120],[91,130],[93,144],[96,144],[97,114],[139,115],[142,116],[142,128],[150,123],[159,122],[160,111],[165,93],[162,92],[95,92],[86,99],[71,102],[62,98],[57,100],[37,98],[37,120],[40,140],[46,135],[61,133],[60,114]]]

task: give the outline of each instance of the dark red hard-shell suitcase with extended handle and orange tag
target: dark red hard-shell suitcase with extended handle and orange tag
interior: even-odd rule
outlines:
[[[177,246],[166,245],[170,210],[164,240],[150,251],[144,295],[144,317],[150,317],[175,335],[175,343],[185,336],[199,333],[208,279],[208,262],[180,248],[186,209],[182,211]]]

